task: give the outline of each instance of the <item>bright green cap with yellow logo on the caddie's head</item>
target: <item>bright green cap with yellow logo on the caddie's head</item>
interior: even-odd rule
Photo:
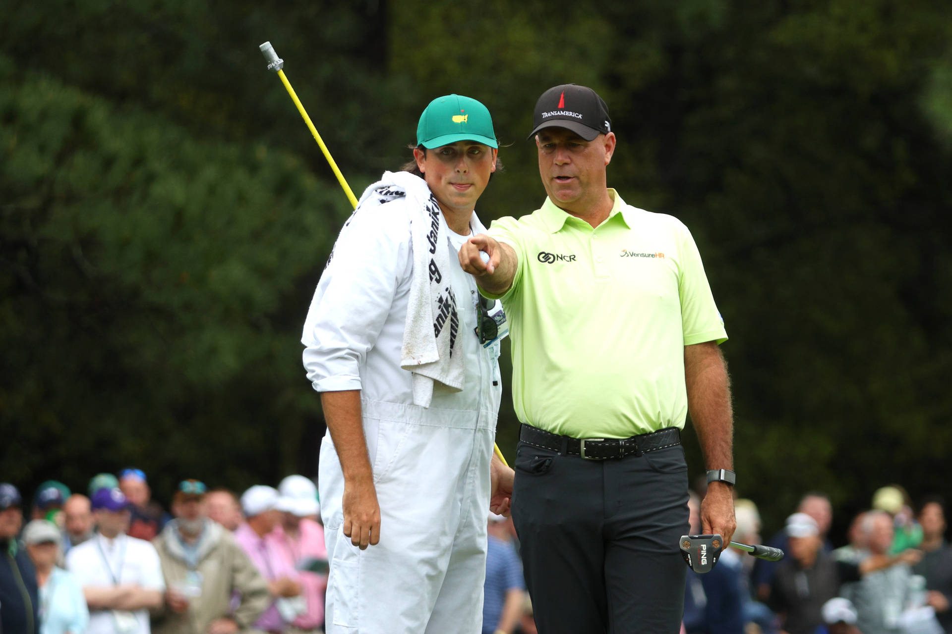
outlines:
[[[417,125],[417,145],[427,149],[457,141],[475,141],[499,147],[489,110],[462,95],[437,97],[426,106]]]

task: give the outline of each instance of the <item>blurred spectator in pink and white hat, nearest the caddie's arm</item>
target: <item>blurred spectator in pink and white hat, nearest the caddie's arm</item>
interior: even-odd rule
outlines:
[[[324,593],[327,590],[327,548],[324,528],[313,519],[321,510],[317,487],[303,475],[288,475],[278,486],[281,523],[268,535],[288,566],[300,570],[299,582],[307,611],[298,616],[288,632],[312,634],[324,625]],[[322,572],[318,573],[315,568]]]

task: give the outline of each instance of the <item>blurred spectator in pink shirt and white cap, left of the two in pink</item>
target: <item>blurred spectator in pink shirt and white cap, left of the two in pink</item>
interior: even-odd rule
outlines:
[[[286,631],[306,609],[301,599],[297,570],[288,566],[273,540],[267,539],[280,518],[281,511],[277,509],[279,497],[277,490],[264,485],[246,490],[241,496],[246,522],[234,533],[235,540],[245,548],[251,562],[268,581],[272,602],[255,623],[255,627],[267,632]]]

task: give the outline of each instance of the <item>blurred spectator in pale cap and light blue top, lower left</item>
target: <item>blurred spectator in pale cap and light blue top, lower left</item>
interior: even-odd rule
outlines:
[[[33,520],[23,529],[23,543],[36,568],[40,588],[40,634],[80,634],[89,625],[89,609],[76,577],[56,561],[63,535],[47,520]]]

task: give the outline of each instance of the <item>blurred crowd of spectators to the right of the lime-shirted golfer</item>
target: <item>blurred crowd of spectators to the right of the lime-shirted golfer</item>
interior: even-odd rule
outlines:
[[[699,498],[690,501],[700,532]],[[952,549],[942,499],[913,505],[899,485],[877,490],[833,548],[833,509],[823,492],[803,495],[784,527],[762,542],[757,506],[735,501],[733,541],[781,548],[767,562],[727,548],[706,574],[687,573],[686,634],[942,634],[952,632]]]

